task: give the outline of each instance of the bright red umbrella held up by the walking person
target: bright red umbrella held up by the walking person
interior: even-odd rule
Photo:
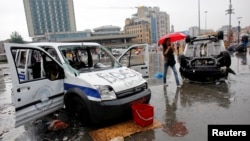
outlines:
[[[173,32],[173,33],[169,33],[167,35],[162,36],[159,39],[158,44],[159,45],[163,44],[166,39],[170,39],[170,42],[175,42],[175,41],[182,40],[185,38],[186,38],[185,34],[180,33],[180,32]]]

